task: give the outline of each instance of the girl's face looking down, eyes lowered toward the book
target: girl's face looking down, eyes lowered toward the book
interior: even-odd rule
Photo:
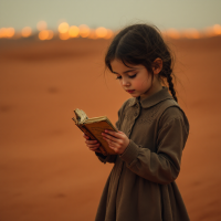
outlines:
[[[120,60],[114,60],[110,62],[110,65],[123,90],[133,97],[140,97],[143,99],[161,90],[161,84],[156,74],[154,74],[152,78],[151,74],[141,64],[128,64],[128,67]]]

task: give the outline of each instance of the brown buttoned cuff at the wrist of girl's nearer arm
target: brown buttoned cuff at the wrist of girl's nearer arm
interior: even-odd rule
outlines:
[[[120,155],[120,158],[130,165],[138,156],[139,147],[130,139],[129,145],[125,149],[125,151]]]

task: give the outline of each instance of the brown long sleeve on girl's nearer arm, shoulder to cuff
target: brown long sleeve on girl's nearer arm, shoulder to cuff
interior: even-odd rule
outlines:
[[[172,116],[170,110],[167,113],[168,115],[161,119],[162,127],[158,133],[156,152],[130,140],[120,156],[133,172],[162,185],[177,178],[180,171],[182,149],[189,134],[189,124],[185,116]]]

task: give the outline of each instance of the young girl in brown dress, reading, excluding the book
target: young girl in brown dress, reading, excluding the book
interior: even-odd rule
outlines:
[[[84,135],[101,161],[114,162],[95,220],[189,220],[175,182],[189,124],[177,103],[168,46],[155,27],[130,25],[113,40],[105,64],[131,98],[118,112],[119,131],[102,134],[116,155],[103,156]]]

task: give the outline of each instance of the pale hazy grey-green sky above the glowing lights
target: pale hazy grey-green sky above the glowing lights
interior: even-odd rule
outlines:
[[[221,24],[221,0],[0,0],[0,28],[49,29],[61,21],[72,25],[120,29],[134,22],[150,22],[160,29],[203,29]]]

